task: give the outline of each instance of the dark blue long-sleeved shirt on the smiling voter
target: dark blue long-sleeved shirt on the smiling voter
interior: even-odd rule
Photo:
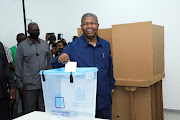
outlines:
[[[112,104],[111,90],[115,83],[110,43],[97,37],[97,44],[94,47],[89,44],[83,34],[68,44],[63,53],[69,55],[70,61],[76,61],[78,67],[98,68],[96,107],[97,109],[109,107]],[[58,57],[55,57],[51,62],[53,68],[63,66],[63,64],[58,63]]]

